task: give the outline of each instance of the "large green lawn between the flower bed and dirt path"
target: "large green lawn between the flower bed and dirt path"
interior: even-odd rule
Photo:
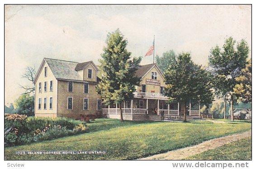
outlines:
[[[131,160],[251,129],[251,123],[119,122],[96,119],[88,133],[5,148],[7,160]],[[16,155],[15,151],[107,151],[104,155]]]

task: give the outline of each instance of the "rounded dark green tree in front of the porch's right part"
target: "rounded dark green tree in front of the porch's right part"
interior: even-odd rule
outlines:
[[[176,59],[176,64],[169,66],[165,73],[165,95],[170,102],[198,102],[208,105],[213,100],[209,73],[191,60],[189,53],[182,53]],[[184,112],[184,122],[186,113]]]

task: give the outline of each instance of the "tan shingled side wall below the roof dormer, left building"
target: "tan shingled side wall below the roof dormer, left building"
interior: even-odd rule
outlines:
[[[73,92],[68,92],[68,81],[58,80],[58,110],[57,116],[79,119],[80,114],[100,115],[97,110],[97,99],[101,96],[95,90],[95,84],[89,83],[89,93],[84,93],[84,82],[73,82]],[[73,97],[73,110],[67,109],[67,97]],[[88,98],[88,110],[84,108],[84,98]]]

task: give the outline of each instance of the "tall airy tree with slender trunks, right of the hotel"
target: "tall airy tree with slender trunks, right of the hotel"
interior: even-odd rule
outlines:
[[[215,94],[223,97],[225,108],[226,98],[229,96],[232,121],[234,120],[233,100],[235,96],[233,88],[237,84],[236,78],[240,76],[241,70],[245,67],[249,53],[249,47],[245,40],[242,39],[237,43],[236,50],[234,47],[235,44],[236,41],[232,37],[229,37],[224,42],[223,51],[216,46],[211,49],[209,55],[209,69],[213,76]],[[224,110],[224,115],[226,115],[226,110]]]

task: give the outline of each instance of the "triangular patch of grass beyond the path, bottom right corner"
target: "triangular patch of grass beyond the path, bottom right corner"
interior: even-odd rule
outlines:
[[[251,160],[251,137],[192,155],[184,160]]]

